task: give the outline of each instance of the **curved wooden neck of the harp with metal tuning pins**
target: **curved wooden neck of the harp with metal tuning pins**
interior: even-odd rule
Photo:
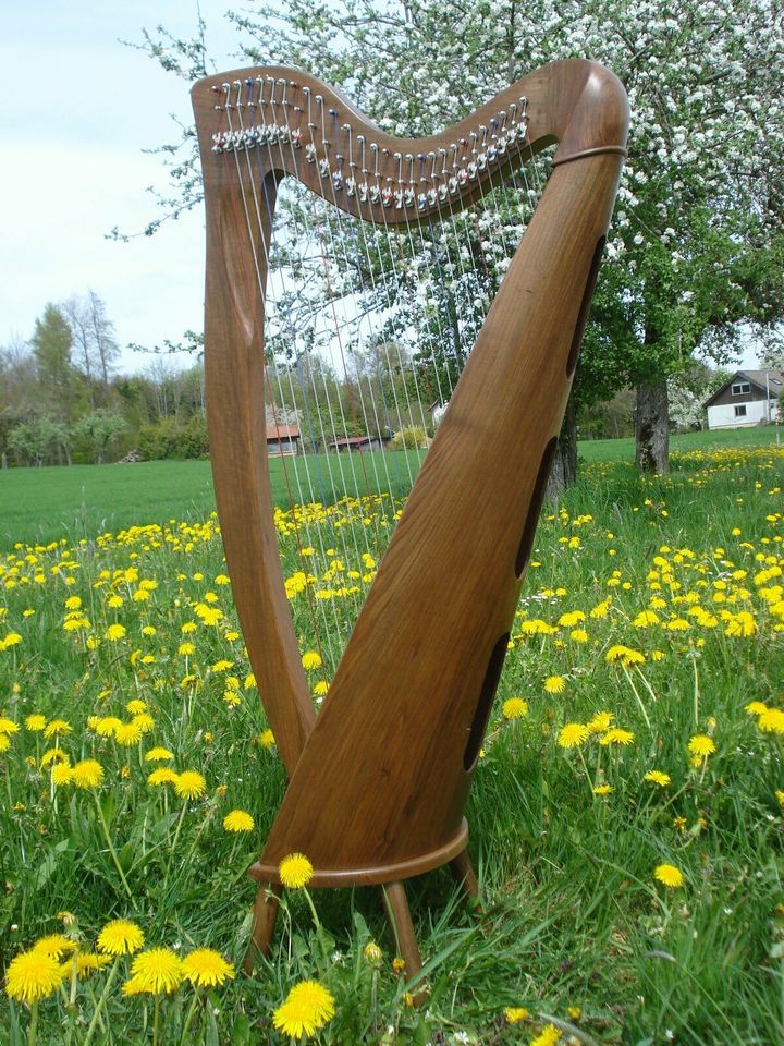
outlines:
[[[207,77],[193,98],[203,162],[215,180],[242,179],[249,157],[240,162],[237,154],[254,154],[264,173],[293,175],[342,210],[388,224],[467,206],[556,142],[553,165],[626,151],[623,85],[583,59],[546,65],[452,127],[419,138],[387,134],[340,92],[285,66]]]

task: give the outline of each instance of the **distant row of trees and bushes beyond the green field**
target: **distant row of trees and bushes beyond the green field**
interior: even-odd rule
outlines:
[[[120,346],[101,299],[90,291],[48,304],[29,341],[0,346],[0,462],[101,464],[128,453],[145,461],[207,458],[200,338],[188,332],[186,343],[197,361],[189,367],[175,366],[166,351],[142,351],[139,373],[118,374]],[[413,405],[414,392],[427,396],[427,388],[413,388],[414,365],[400,345],[393,352],[384,343],[353,352],[342,376],[314,354],[277,362],[274,375],[267,423],[298,425],[306,450],[322,451],[334,437],[364,435],[396,436],[394,447],[401,433],[408,446],[408,434],[418,440],[422,427],[431,431],[430,415]],[[701,402],[724,376],[693,363],[672,381],[671,423],[701,427]],[[421,386],[421,370],[418,380]],[[633,435],[634,405],[633,390],[622,389],[581,408],[580,437]]]

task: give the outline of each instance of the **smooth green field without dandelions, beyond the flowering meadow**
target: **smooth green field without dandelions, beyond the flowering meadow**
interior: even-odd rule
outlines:
[[[749,428],[674,436],[676,453],[721,447],[775,445],[777,428]],[[586,463],[634,461],[633,439],[597,439],[578,445]],[[418,455],[408,453],[416,469]],[[354,465],[355,476],[351,466]],[[290,503],[289,487],[297,490],[297,463],[270,462],[272,492],[277,504]],[[403,494],[407,481],[404,454],[331,455],[317,459],[314,470],[315,499],[329,503],[334,492],[360,495],[373,489],[376,476],[389,474],[392,492]],[[302,463],[299,463],[302,470]],[[385,484],[384,484],[385,485]],[[302,478],[305,494],[309,495]],[[305,500],[309,500],[306,497]],[[200,520],[215,509],[212,475],[206,461],[150,461],[134,465],[72,465],[70,467],[8,469],[0,472],[0,549],[15,542],[47,544],[61,537],[91,538],[105,531],[170,519]]]

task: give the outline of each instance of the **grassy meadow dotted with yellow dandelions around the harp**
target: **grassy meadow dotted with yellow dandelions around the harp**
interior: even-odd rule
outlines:
[[[375,889],[287,891],[241,972],[285,782],[207,463],[93,467],[76,499],[75,470],[0,474],[0,1043],[284,1044],[302,982],[322,1044],[781,1042],[784,449],[698,434],[640,477],[613,445],[542,515],[467,810],[480,900],[412,885],[417,986]],[[306,571],[278,514],[317,704],[309,600],[351,620],[378,502],[306,509],[319,548],[377,543]]]

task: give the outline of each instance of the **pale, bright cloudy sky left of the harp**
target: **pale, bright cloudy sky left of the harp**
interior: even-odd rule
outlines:
[[[226,5],[198,4],[217,70],[240,64]],[[177,139],[172,115],[191,122],[189,85],[121,41],[157,25],[193,36],[197,2],[0,0],[0,345],[27,340],[48,302],[91,289],[115,324],[119,368],[140,370],[150,357],[130,343],[201,330],[204,222],[197,207],[152,238],[107,239],[159,216],[147,188],[164,191],[166,172],[144,150]],[[757,366],[751,346],[742,364]]]

